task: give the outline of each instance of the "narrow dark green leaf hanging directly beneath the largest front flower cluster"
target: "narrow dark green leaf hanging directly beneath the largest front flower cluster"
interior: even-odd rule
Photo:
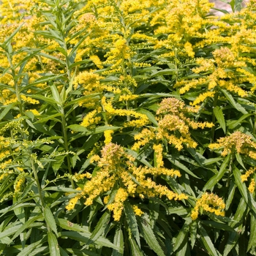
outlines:
[[[132,235],[135,237],[135,240],[137,241],[138,246],[140,247],[140,233],[138,230],[137,219],[135,217],[135,213],[132,209],[132,206],[127,201],[124,202],[124,214],[127,219],[127,224],[130,230],[132,231]]]

